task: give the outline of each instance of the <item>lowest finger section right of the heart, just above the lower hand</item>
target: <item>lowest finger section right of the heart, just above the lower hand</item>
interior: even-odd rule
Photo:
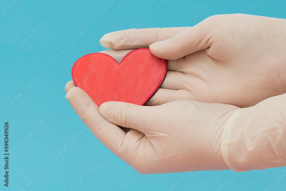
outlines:
[[[194,100],[187,90],[168,90],[159,88],[156,93],[145,103],[146,106],[155,106],[176,100]]]

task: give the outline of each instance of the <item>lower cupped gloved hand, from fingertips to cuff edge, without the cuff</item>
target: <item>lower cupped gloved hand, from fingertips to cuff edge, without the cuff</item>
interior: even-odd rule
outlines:
[[[172,101],[160,106],[106,102],[100,108],[73,81],[66,98],[92,133],[142,174],[230,169],[220,142],[225,124],[239,107]],[[130,128],[127,133],[120,127]]]

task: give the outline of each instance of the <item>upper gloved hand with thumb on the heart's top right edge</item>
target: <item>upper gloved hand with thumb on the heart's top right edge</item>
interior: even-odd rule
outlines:
[[[250,107],[286,92],[285,22],[215,15],[194,27],[116,31],[105,34],[100,43],[117,49],[103,53],[118,62],[127,49],[148,47],[168,60],[166,78],[146,105],[195,100]]]

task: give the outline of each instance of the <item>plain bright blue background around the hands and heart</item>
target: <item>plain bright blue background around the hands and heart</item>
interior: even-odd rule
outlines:
[[[17,3],[5,13],[3,9],[11,1],[0,2],[0,137],[4,135],[4,122],[8,121],[11,153],[9,188],[3,186],[3,178],[0,178],[0,190],[71,190],[75,181],[81,178],[84,182],[76,190],[123,190],[122,184],[132,175],[136,178],[124,187],[125,190],[172,190],[170,184],[177,180],[180,184],[174,190],[215,190],[225,178],[231,182],[223,190],[265,190],[270,184],[275,185],[272,190],[285,190],[286,177],[278,184],[273,181],[286,167],[242,173],[231,170],[191,172],[183,181],[179,179],[182,173],[141,175],[111,153],[89,129],[75,141],[72,139],[84,123],[65,99],[64,91],[66,82],[72,79],[71,69],[78,58],[106,50],[99,43],[106,33],[134,28],[137,22],[143,23],[142,28],[193,26],[211,15],[229,13],[285,19],[285,1],[260,0],[263,3],[253,10],[254,0],[215,0],[213,3],[209,0],[168,0],[161,1],[164,4],[159,8],[156,3],[160,0],[115,0],[100,18],[98,12],[110,0],[12,1]],[[210,7],[194,20],[192,15],[206,3],[210,3]],[[42,19],[47,23],[34,34],[32,29]],[[78,31],[84,34],[70,46],[69,41]],[[23,48],[16,50],[15,46],[19,46],[29,34],[33,37]],[[55,58],[65,46],[69,50],[53,63],[51,58]],[[26,91],[23,87],[29,85],[33,77],[38,80]],[[23,96],[11,108],[6,108],[5,105],[20,92]],[[41,122],[45,114],[51,117],[36,129],[35,124]],[[32,129],[35,133],[19,145],[22,137],[30,134]],[[0,139],[1,149],[4,147],[2,140],[4,137]],[[68,141],[72,145],[56,159],[54,153]],[[3,177],[4,160],[1,159],[0,176]],[[86,178],[84,173],[94,163],[100,166]],[[33,184],[27,184],[37,172],[41,174],[39,178]]]

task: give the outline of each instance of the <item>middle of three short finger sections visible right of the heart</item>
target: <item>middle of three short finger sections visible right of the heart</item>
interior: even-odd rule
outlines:
[[[190,74],[184,74],[182,72],[167,71],[166,77],[162,82],[160,88],[169,90],[182,89],[182,83],[186,80],[186,77]]]

